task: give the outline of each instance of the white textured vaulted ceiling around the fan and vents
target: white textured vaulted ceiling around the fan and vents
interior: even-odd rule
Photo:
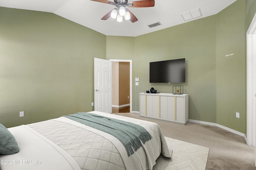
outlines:
[[[114,1],[114,0],[110,0]],[[136,0],[128,0],[136,1]],[[52,12],[58,16],[94,29],[104,35],[136,37],[160,29],[172,27],[188,21],[217,14],[236,0],[155,0],[150,8],[129,8],[138,18],[132,23],[115,19],[101,20],[115,6],[91,0],[0,0],[0,6],[42,12]],[[180,14],[200,8],[202,16],[184,21]],[[162,25],[148,27],[156,22]]]

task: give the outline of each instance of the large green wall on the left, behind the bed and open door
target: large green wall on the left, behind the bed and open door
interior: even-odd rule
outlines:
[[[92,111],[94,57],[106,59],[106,35],[52,13],[0,8],[0,123]]]

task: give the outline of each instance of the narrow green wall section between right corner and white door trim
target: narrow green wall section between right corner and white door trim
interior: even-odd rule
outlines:
[[[246,133],[246,37],[244,0],[217,14],[216,123]],[[225,57],[225,55],[234,54]],[[236,118],[236,112],[240,118]]]

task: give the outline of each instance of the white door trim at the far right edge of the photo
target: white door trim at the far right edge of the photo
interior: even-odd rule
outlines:
[[[256,94],[256,14],[246,33],[246,67],[247,67],[247,92],[246,92],[246,115],[247,115],[247,145],[255,146],[255,94]],[[254,47],[254,48],[253,48]]]

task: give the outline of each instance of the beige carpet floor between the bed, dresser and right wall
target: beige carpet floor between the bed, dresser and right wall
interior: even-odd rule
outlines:
[[[256,170],[255,147],[246,145],[240,135],[199,123],[182,125],[140,117],[138,113],[115,114],[156,122],[166,137],[210,148],[206,170]]]

